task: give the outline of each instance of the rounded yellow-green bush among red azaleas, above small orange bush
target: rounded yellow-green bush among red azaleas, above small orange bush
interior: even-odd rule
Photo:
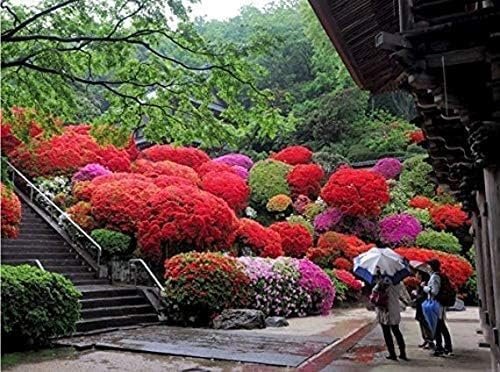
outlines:
[[[252,202],[256,206],[264,206],[275,195],[290,195],[286,181],[289,170],[289,165],[275,160],[255,163],[248,177]]]

